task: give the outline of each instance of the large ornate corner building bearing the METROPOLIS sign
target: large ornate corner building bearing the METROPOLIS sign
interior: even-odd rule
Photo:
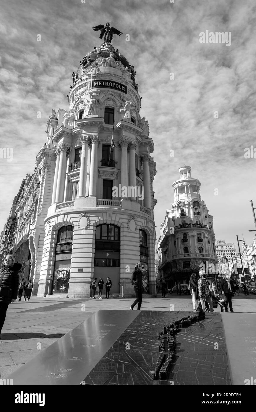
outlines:
[[[48,135],[56,163],[37,296],[89,297],[93,278],[110,277],[112,295],[133,297],[138,262],[143,293],[156,296],[156,164],[135,74],[110,43],[73,73],[69,110]]]

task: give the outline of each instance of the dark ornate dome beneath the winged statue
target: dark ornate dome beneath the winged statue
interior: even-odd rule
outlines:
[[[82,74],[85,74],[88,68],[91,66],[92,62],[100,57],[107,58],[110,56],[110,53],[113,53],[113,57],[116,61],[121,61],[121,63],[126,67],[130,67],[130,63],[125,57],[119,53],[118,49],[115,49],[110,43],[102,43],[98,48],[95,47],[92,52],[86,54],[85,57],[80,61],[80,67],[77,70],[76,78],[80,79]],[[131,66],[133,68],[133,66]],[[132,71],[132,70],[131,70]],[[131,73],[131,80],[135,86],[135,79],[133,73]]]

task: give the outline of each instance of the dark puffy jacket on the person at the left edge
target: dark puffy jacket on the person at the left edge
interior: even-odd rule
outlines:
[[[20,263],[14,263],[12,267],[3,267],[0,273],[0,303],[11,303],[18,295],[18,271]]]

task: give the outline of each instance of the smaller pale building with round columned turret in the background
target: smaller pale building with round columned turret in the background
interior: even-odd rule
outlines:
[[[214,280],[216,256],[213,217],[200,195],[201,183],[191,177],[191,167],[179,169],[173,183],[174,202],[166,211],[158,241],[159,272],[168,280],[168,287],[189,282],[203,263],[208,280]],[[207,270],[212,265],[212,271]],[[211,272],[213,273],[211,275]],[[210,273],[210,274],[209,274]]]

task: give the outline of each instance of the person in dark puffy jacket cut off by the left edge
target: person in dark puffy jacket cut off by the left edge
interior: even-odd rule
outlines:
[[[6,255],[0,271],[0,333],[5,323],[8,305],[15,302],[18,295],[18,271],[20,263],[15,263],[13,255]]]

